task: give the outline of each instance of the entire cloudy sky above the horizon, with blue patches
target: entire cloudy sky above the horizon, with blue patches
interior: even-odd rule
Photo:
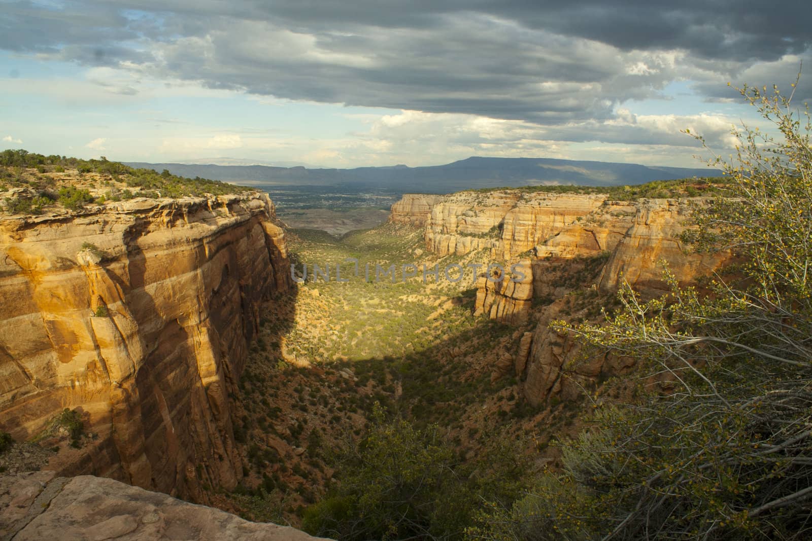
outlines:
[[[0,148],[697,167],[680,130],[725,156],[762,125],[735,88],[789,91],[801,65],[797,105],[808,0],[0,0]]]

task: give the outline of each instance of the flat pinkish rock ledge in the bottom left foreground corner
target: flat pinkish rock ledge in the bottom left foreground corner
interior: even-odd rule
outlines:
[[[0,478],[0,539],[260,539],[307,541],[299,530],[148,492],[113,479],[54,478],[35,472]]]

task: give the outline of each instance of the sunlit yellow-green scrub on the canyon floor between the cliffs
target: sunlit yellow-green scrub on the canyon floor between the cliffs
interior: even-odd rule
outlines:
[[[478,324],[471,314],[473,298],[465,306],[456,303],[443,311],[442,328],[430,324],[437,305],[452,302],[459,287],[443,282],[426,294],[419,271],[416,277],[400,282],[402,265],[413,263],[413,250],[422,245],[417,230],[390,224],[342,238],[314,230],[292,233],[290,245],[296,253],[293,260],[298,262],[300,272],[307,264],[308,278],[296,298],[302,324],[286,336],[291,353],[317,362],[400,358],[431,346],[443,333]],[[350,258],[358,260],[358,276]],[[383,276],[376,281],[378,263],[384,270],[394,264],[398,283]],[[313,281],[315,264],[322,270],[330,265],[330,281],[322,277]],[[342,280],[348,282],[336,281],[335,264],[341,264]]]

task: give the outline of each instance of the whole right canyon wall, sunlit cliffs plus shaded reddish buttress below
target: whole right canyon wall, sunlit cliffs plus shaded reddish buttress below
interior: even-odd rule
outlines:
[[[689,253],[682,246],[680,234],[703,203],[701,198],[613,201],[605,195],[460,192],[431,208],[425,243],[441,255],[484,249],[506,269],[520,265],[525,274],[520,281],[507,273],[479,277],[474,310],[504,323],[533,324],[512,365],[499,363],[493,376],[513,371],[525,398],[539,406],[551,397],[574,400],[594,381],[633,366],[630,359],[605,353],[576,362],[580,344],[549,328],[551,320],[595,320],[621,281],[646,298],[663,294],[663,263],[678,281],[690,283],[730,259],[728,253]]]

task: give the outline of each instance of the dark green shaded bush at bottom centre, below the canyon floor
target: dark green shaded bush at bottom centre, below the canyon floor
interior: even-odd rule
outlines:
[[[304,512],[302,528],[311,534],[448,539],[470,524],[483,499],[512,501],[527,473],[503,447],[465,464],[437,425],[420,430],[387,420],[380,406],[369,431],[340,460],[334,491]]]

